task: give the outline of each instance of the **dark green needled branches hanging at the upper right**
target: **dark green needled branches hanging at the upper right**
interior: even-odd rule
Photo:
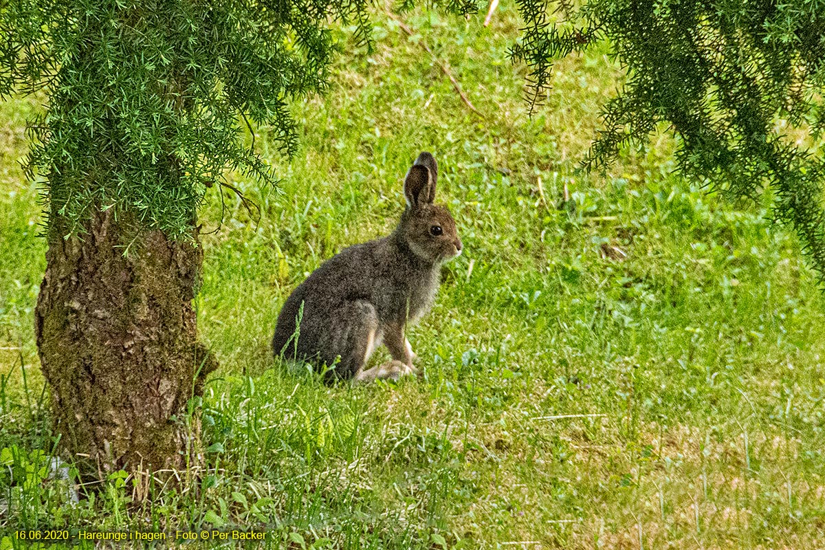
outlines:
[[[534,103],[554,59],[606,42],[625,69],[587,167],[667,125],[686,175],[733,197],[771,186],[776,219],[825,279],[825,158],[812,144],[825,130],[825,3],[564,0],[563,22],[547,2],[516,3],[526,28],[512,56],[530,66]]]

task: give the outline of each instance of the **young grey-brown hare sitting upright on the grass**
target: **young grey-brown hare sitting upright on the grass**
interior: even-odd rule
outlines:
[[[461,254],[455,220],[436,198],[438,167],[418,155],[404,180],[407,208],[388,237],[347,247],[314,270],[286,299],[272,349],[355,382],[417,374],[404,336],[430,308],[441,264]],[[365,369],[384,344],[392,360]]]

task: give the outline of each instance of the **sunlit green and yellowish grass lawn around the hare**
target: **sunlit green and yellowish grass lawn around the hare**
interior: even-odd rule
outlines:
[[[0,105],[0,548],[17,528],[233,525],[266,526],[273,548],[825,547],[825,304],[771,197],[730,204],[673,176],[664,134],[575,172],[619,74],[603,53],[567,59],[529,118],[512,2],[489,29],[414,12],[410,38],[375,21],[375,54],[351,49],[328,96],[294,106],[291,162],[260,129],[281,186],[233,185],[261,219],[230,195],[201,210],[219,231],[203,237],[199,327],[222,366],[202,402],[209,470],[182,491],[124,474],[73,503],[50,476],[40,205],[16,164],[35,107]],[[328,387],[283,369],[268,349],[281,303],[389,231],[421,150],[465,247],[411,331],[423,380]]]

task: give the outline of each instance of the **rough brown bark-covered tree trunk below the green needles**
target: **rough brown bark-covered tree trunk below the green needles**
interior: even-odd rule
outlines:
[[[35,309],[56,430],[83,479],[197,463],[186,404],[216,366],[192,305],[201,248],[117,218],[95,214],[68,239],[52,219]]]

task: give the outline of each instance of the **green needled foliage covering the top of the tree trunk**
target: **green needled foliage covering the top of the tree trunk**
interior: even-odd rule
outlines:
[[[468,10],[471,3],[450,3]],[[30,126],[31,173],[45,176],[63,236],[92,209],[191,237],[224,171],[273,182],[238,120],[268,125],[293,154],[290,101],[323,92],[336,45],[330,19],[355,21],[370,45],[365,0],[126,2],[13,0],[0,7],[0,97],[45,89]]]

